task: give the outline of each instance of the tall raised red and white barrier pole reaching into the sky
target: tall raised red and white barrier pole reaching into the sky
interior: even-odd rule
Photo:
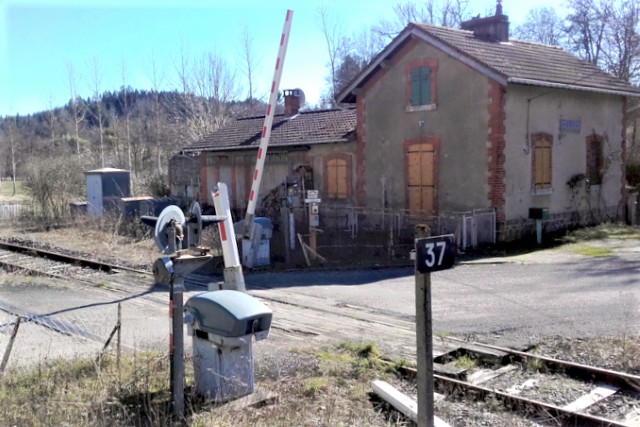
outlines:
[[[269,137],[271,136],[271,126],[273,124],[273,115],[275,113],[275,105],[278,100],[278,88],[280,86],[280,78],[282,77],[282,68],[284,65],[284,58],[287,53],[287,45],[289,43],[289,33],[291,31],[291,20],[293,18],[293,11],[287,10],[287,16],[284,21],[284,27],[282,29],[282,35],[280,36],[280,48],[278,49],[278,58],[276,59],[275,72],[273,76],[273,82],[271,83],[271,93],[269,95],[269,104],[267,104],[267,112],[264,117],[264,125],[262,127],[262,137],[260,139],[260,146],[258,148],[258,158],[256,161],[256,168],[253,171],[253,181],[251,183],[251,191],[249,192],[249,203],[247,205],[247,213],[245,215],[245,227],[242,236],[243,239],[243,251],[242,261],[247,267],[253,267],[254,264],[254,250],[251,245],[252,234],[254,233],[253,217],[256,212],[256,204],[258,199],[258,193],[260,191],[260,183],[262,181],[262,174],[264,171],[264,162],[267,158],[267,146],[269,145]],[[245,240],[248,240],[245,244]],[[245,250],[247,248],[248,250]]]

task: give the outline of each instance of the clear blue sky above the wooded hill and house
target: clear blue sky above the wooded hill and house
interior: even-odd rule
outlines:
[[[61,106],[70,98],[67,64],[78,94],[93,93],[92,64],[98,64],[100,90],[127,84],[152,87],[151,62],[163,70],[164,89],[179,87],[175,72],[180,49],[187,57],[213,52],[241,70],[241,29],[253,38],[256,92],[266,98],[287,9],[294,11],[280,89],[301,88],[311,104],[326,86],[326,44],[318,25],[322,0],[0,0],[0,116],[30,114]],[[324,0],[347,35],[392,16],[391,0]],[[504,0],[513,25],[532,7],[558,2]],[[472,0],[484,14],[495,0]],[[246,95],[246,90],[241,92]]]

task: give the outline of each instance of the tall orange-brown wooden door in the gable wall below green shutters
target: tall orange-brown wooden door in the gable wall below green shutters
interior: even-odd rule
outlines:
[[[433,144],[411,144],[407,149],[407,208],[411,214],[435,214],[434,160]]]

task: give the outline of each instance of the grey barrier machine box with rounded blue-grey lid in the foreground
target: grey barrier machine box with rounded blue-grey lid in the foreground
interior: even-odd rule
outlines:
[[[273,313],[244,292],[205,292],[185,304],[196,393],[227,402],[253,393],[252,338],[267,338]]]

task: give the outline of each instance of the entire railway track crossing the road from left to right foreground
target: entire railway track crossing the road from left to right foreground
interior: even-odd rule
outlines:
[[[116,262],[0,241],[0,266],[128,294],[141,290],[136,297],[154,304],[165,303],[144,294],[145,289],[154,286],[149,271]],[[187,283],[206,287],[208,281],[206,277],[192,276]],[[274,309],[282,309],[278,310],[278,319],[273,325],[280,333],[289,333],[295,327],[299,329],[296,333],[302,336],[349,339],[336,334],[335,328],[323,330],[319,326],[322,322],[314,320],[314,316],[323,318],[335,311],[331,305],[298,301],[277,290],[254,293],[275,304]],[[310,315],[301,316],[300,310]],[[393,335],[398,346],[404,343],[405,349],[410,347],[407,343],[415,342],[412,322],[407,319],[373,316],[357,307],[341,307],[340,310],[334,316],[342,319],[343,326],[354,325],[345,326],[343,330],[358,330],[356,325],[366,322],[368,327],[380,332],[389,329],[386,335]],[[309,325],[301,319],[309,319]],[[640,427],[640,376],[452,338],[437,341],[434,342],[434,384],[437,391],[452,399],[495,399],[517,412],[538,414],[538,419],[548,423],[543,425]],[[474,360],[476,366],[473,369],[457,368],[455,361],[462,356]],[[405,370],[411,373],[410,369]],[[549,383],[563,385],[546,385]],[[556,393],[558,388],[566,388],[567,393]],[[544,389],[553,393],[545,394]]]

